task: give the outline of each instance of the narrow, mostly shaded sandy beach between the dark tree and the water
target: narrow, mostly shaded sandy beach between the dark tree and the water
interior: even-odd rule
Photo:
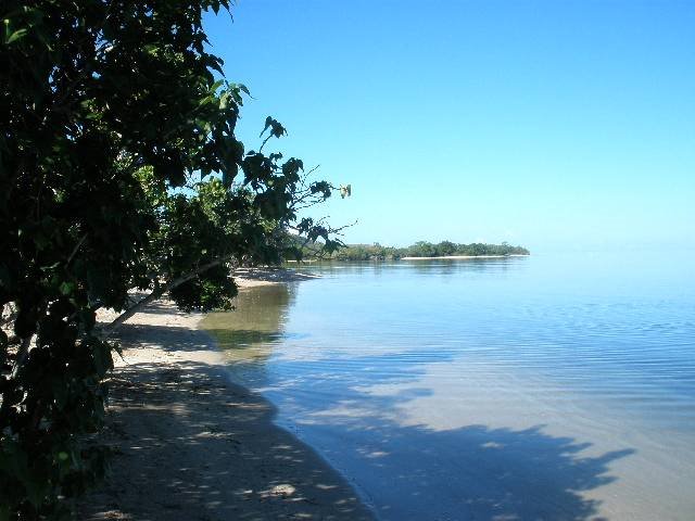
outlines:
[[[244,276],[241,291],[287,279]],[[78,519],[372,519],[332,468],[273,423],[270,404],[229,382],[201,318],[161,301],[118,331],[124,357],[101,436],[114,457]]]

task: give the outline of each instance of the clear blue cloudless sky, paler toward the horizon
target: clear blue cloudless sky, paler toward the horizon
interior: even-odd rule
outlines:
[[[349,242],[695,242],[695,1],[240,0],[240,136],[350,182]]]

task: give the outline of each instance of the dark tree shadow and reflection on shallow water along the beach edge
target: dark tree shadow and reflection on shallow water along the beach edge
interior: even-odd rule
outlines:
[[[341,470],[380,519],[594,519],[601,500],[584,493],[615,481],[611,462],[633,452],[592,453],[592,444],[549,435],[542,425],[407,424],[402,407],[432,396],[431,386],[417,382],[428,363],[442,360],[441,353],[409,369],[395,369],[400,358],[388,353],[354,356],[340,367],[273,353],[291,351],[281,332],[288,309],[282,304],[290,300],[265,295],[276,331],[267,320],[256,321],[262,331],[249,342],[249,323],[240,315],[216,317],[239,328],[214,331],[235,360],[235,373],[279,404],[280,423]],[[267,308],[263,298],[250,298],[239,309],[244,302],[256,310]],[[235,347],[233,342],[241,344]],[[270,355],[282,356],[282,364],[260,364]]]

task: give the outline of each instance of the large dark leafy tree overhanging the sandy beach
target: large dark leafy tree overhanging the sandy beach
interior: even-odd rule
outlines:
[[[168,292],[226,308],[242,263],[340,242],[302,208],[332,187],[235,127],[248,93],[207,52],[229,0],[5,0],[0,8],[0,520],[70,517],[102,473],[111,329]],[[131,302],[129,290],[149,296]],[[96,310],[123,310],[100,329]]]

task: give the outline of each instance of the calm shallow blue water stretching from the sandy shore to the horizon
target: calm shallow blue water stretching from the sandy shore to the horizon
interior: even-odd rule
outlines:
[[[695,519],[692,257],[311,270],[205,326],[380,519]]]

